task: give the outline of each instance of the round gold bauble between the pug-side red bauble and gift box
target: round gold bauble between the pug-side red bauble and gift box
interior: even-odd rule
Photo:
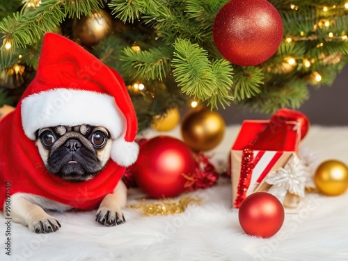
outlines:
[[[182,119],[184,142],[194,151],[212,150],[223,139],[226,123],[219,113],[209,109],[193,109]]]

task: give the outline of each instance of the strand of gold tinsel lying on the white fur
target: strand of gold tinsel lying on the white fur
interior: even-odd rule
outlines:
[[[142,201],[143,203],[132,204],[127,206],[127,208],[135,209],[142,216],[168,216],[184,212],[189,205],[199,205],[202,199],[187,196],[179,201],[171,198],[164,198],[164,200],[155,203],[148,203],[146,199],[142,199]]]

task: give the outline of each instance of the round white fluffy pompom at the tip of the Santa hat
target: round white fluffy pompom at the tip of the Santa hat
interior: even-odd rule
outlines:
[[[136,142],[127,142],[123,137],[113,141],[111,159],[120,166],[131,166],[139,155],[139,145]]]

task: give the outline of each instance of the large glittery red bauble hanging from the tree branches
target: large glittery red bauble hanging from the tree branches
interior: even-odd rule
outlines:
[[[213,35],[219,52],[231,63],[252,66],[276,53],[283,21],[266,0],[231,0],[217,13]]]

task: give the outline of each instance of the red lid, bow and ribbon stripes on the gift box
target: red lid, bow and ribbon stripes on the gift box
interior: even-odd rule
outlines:
[[[287,124],[287,122],[296,122],[293,125]],[[261,128],[262,125],[259,125],[258,128]],[[246,135],[242,137],[242,142],[246,142],[248,139],[247,145],[244,146],[242,152],[242,162],[241,162],[241,173],[239,175],[239,183],[237,187],[237,196],[235,199],[235,207],[239,208],[242,204],[242,201],[246,198],[246,192],[251,185],[251,175],[255,165],[258,163],[258,160],[262,157],[264,151],[275,150],[277,151],[274,157],[272,157],[269,164],[264,168],[264,171],[258,177],[257,182],[260,183],[269,173],[270,169],[276,161],[281,157],[283,152],[279,150],[281,147],[283,151],[291,151],[294,149],[294,139],[287,140],[287,133],[289,130],[296,130],[296,128],[301,128],[301,139],[306,136],[310,123],[308,118],[299,111],[294,111],[291,109],[280,109],[269,120],[268,124],[264,129],[260,129],[260,132],[254,137]],[[289,129],[292,128],[292,129]],[[240,135],[240,134],[239,134]],[[240,145],[240,144],[239,144]],[[234,147],[238,147],[238,144],[235,144]],[[254,150],[260,150],[254,158]]]

